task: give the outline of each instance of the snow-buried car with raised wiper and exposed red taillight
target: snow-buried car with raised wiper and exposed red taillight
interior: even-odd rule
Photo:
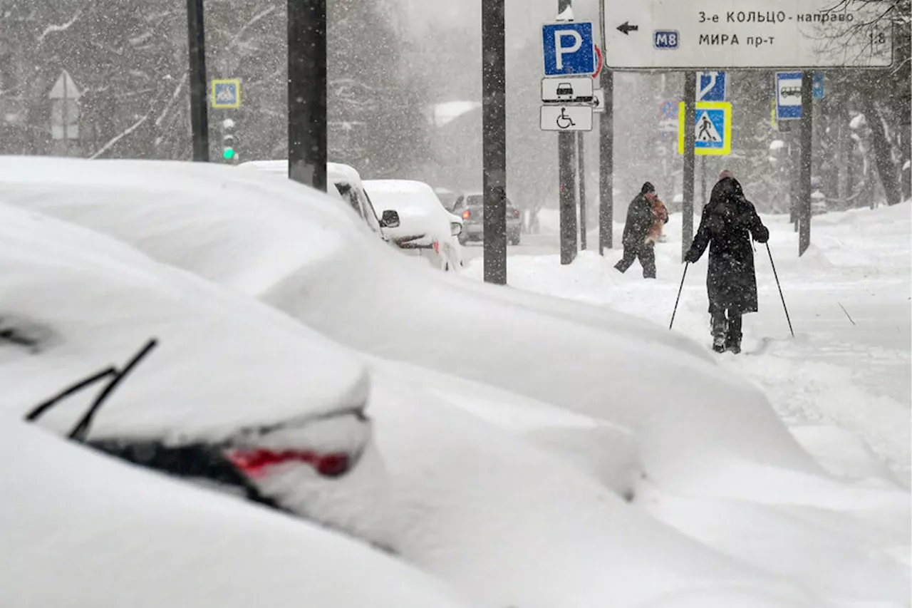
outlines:
[[[109,236],[0,204],[0,413],[378,545],[389,494],[349,352]],[[376,513],[348,503],[367,499]]]

